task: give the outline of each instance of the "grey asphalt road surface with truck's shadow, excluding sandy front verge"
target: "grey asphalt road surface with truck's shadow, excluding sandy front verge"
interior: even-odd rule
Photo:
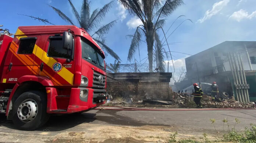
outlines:
[[[42,140],[45,138],[44,141],[49,141],[63,132],[85,132],[85,134],[90,133],[91,135],[95,127],[100,130],[101,126],[109,129],[115,127],[127,127],[132,129],[141,127],[163,127],[165,128],[164,131],[177,131],[183,135],[202,135],[202,133],[214,135],[215,130],[211,124],[210,118],[216,119],[216,123],[214,124],[218,131],[223,131],[223,122],[221,120],[224,118],[227,118],[230,127],[235,125],[238,131],[243,131],[242,129],[245,127],[250,127],[250,123],[256,124],[256,110],[90,110],[89,112],[81,114],[51,116],[46,125],[36,131],[19,131],[13,127],[11,121],[5,121],[5,117],[1,115],[0,136],[7,137],[4,142],[23,142],[24,140],[22,139],[15,140],[12,138],[12,136],[18,138],[19,135],[26,135],[25,137],[31,138],[31,141],[33,141],[34,136],[41,135]],[[238,118],[239,124],[235,123],[235,118]],[[227,129],[226,125],[224,129]]]

